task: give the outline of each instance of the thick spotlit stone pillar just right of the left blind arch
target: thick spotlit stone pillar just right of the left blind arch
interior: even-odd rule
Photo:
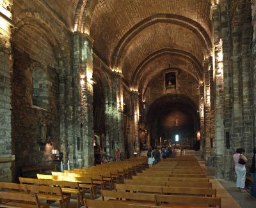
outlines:
[[[74,167],[88,167],[94,165],[93,40],[88,34],[76,32],[73,41],[74,133],[72,138],[68,138],[68,159],[71,161],[70,167],[72,163]]]

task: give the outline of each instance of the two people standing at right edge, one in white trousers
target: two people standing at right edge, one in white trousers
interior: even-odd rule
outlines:
[[[247,192],[244,189],[245,186],[245,179],[246,179],[246,168],[245,164],[248,161],[246,156],[244,156],[244,149],[239,148],[236,150],[236,153],[233,155],[233,161],[236,170],[236,186],[242,193]],[[250,194],[252,197],[256,197],[256,175],[255,175],[255,154],[256,154],[256,147],[253,148],[253,157],[252,157],[252,164],[250,166],[250,175],[252,176],[252,184],[251,184],[251,191]]]

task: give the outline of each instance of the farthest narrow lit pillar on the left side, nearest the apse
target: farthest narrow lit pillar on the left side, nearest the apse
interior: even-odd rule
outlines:
[[[139,94],[136,91],[132,91],[132,109],[133,112],[133,141],[135,142],[134,151],[140,155],[140,141],[139,141],[139,120],[140,120],[140,110],[139,110]]]

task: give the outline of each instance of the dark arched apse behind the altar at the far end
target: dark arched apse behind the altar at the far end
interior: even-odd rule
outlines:
[[[163,127],[163,123],[166,124],[164,121],[169,121],[167,124],[171,131],[170,136],[177,132],[179,132],[179,134],[184,132],[189,134],[191,139],[195,138],[195,130],[199,130],[200,124],[197,109],[198,108],[196,107],[196,103],[184,94],[167,94],[150,103],[147,112],[145,112],[145,115],[146,126],[150,129],[150,135],[152,138],[156,140],[151,141],[151,144],[155,142],[159,143],[158,137],[161,137],[161,135],[159,135],[161,132],[158,131],[163,130],[163,128],[159,128],[159,126]],[[175,125],[176,117],[173,117],[175,114],[180,116],[179,126]],[[172,117],[172,119],[168,119],[168,117]],[[159,125],[159,123],[161,124]],[[190,127],[185,131],[183,128],[188,125]],[[165,131],[163,132],[166,134]],[[191,142],[190,145],[193,145],[193,142]]]

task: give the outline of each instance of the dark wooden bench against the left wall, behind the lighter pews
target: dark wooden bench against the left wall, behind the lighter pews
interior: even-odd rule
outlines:
[[[21,176],[22,177],[33,177],[36,178],[36,174],[47,174],[52,171],[57,171],[56,165],[39,165],[32,167],[22,167]]]

